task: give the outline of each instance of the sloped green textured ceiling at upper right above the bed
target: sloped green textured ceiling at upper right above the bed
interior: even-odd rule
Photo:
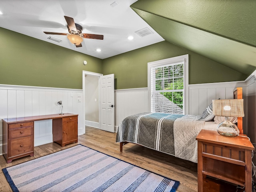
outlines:
[[[131,8],[170,43],[246,76],[256,69],[255,0],[138,0]]]

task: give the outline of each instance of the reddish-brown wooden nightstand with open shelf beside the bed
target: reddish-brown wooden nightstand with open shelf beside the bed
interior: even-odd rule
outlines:
[[[246,135],[243,135],[246,136]],[[201,130],[198,140],[198,192],[252,191],[252,150],[247,137],[226,137]]]

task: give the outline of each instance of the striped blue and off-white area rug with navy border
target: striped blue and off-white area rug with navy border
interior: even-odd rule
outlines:
[[[180,184],[81,144],[3,172],[14,192],[175,192]]]

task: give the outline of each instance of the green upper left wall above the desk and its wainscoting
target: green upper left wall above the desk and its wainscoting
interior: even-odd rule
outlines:
[[[82,89],[82,70],[102,73],[102,59],[4,28],[0,45],[0,84]]]

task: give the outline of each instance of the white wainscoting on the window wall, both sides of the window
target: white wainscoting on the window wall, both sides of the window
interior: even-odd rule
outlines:
[[[188,111],[192,115],[202,114],[213,99],[233,98],[233,91],[236,87],[243,87],[244,93],[246,93],[244,81],[191,84],[188,87]],[[117,131],[118,125],[127,116],[150,112],[148,88],[115,90],[115,104],[115,131]]]

